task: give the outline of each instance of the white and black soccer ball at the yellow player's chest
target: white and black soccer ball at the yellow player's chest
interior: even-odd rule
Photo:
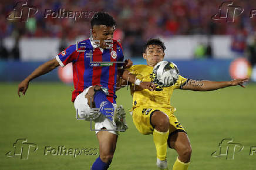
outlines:
[[[153,83],[163,87],[170,87],[178,80],[178,67],[173,62],[162,61],[153,69]]]

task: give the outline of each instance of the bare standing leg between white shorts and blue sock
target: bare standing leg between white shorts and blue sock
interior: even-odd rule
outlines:
[[[100,155],[113,155],[116,149],[117,135],[109,131],[97,132]]]

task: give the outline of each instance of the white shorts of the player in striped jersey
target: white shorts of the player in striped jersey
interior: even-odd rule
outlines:
[[[112,121],[110,121],[109,118],[106,118],[105,115],[100,114],[99,111],[92,110],[92,108],[90,108],[88,105],[88,100],[85,98],[85,95],[87,94],[90,87],[83,90],[83,92],[76,97],[74,101],[76,114],[79,115],[79,118],[84,118],[86,121],[95,121],[96,134],[99,132],[97,130],[106,128],[106,130],[109,130],[110,133],[118,135],[117,131],[113,131],[114,126]],[[117,104],[113,104],[113,107],[116,109]]]

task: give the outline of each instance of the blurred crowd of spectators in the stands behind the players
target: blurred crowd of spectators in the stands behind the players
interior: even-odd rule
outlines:
[[[231,35],[231,48],[244,52],[246,39],[256,30],[256,16],[250,18],[255,0],[233,1],[234,5],[244,8],[242,15],[235,17],[234,23],[224,20],[214,21],[211,17],[218,13],[220,0],[42,0],[28,1],[36,6],[38,13],[28,22],[11,22],[6,16],[14,9],[15,2],[3,1],[0,4],[0,38],[60,38],[73,40],[78,36],[89,36],[90,19],[74,21],[72,18],[44,18],[46,9],[58,11],[106,11],[117,21],[115,38],[122,40],[122,45],[131,56],[142,53],[147,39],[153,37],[171,37],[174,35]],[[223,11],[225,12],[225,11]],[[231,13],[232,15],[232,13]]]

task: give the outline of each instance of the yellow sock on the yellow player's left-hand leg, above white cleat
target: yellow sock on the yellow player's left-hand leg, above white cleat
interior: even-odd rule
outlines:
[[[168,136],[169,130],[167,132],[159,132],[154,129],[153,131],[154,145],[156,145],[156,157],[161,161],[166,159]]]

